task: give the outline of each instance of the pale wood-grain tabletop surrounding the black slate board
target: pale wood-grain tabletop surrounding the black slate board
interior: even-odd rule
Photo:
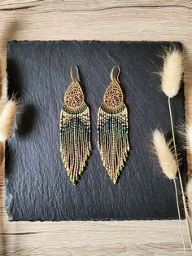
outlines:
[[[192,117],[190,0],[2,0],[0,79],[5,100],[6,45],[17,40],[181,41],[185,47],[185,109]],[[192,169],[192,157],[189,169]],[[178,221],[9,223],[0,172],[0,255],[182,255]],[[190,255],[185,221],[185,240]]]

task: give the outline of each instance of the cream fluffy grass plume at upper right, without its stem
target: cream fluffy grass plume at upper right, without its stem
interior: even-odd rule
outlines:
[[[161,77],[161,87],[164,94],[169,98],[177,95],[184,71],[183,52],[176,47],[164,51],[164,66],[159,73]]]

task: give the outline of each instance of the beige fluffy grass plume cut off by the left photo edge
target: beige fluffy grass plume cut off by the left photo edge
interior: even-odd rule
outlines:
[[[8,100],[2,108],[0,113],[0,141],[5,141],[11,136],[16,111],[17,106],[14,99]]]

